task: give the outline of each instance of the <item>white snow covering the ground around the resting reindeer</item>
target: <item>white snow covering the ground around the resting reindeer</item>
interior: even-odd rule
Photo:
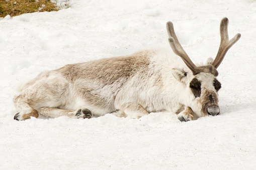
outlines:
[[[1,169],[254,169],[256,1],[70,0],[58,12],[0,20]],[[219,24],[241,34],[218,68],[221,114],[180,122],[174,113],[140,119],[111,114],[16,121],[15,87],[65,64],[169,48],[165,23],[194,62],[215,57]]]

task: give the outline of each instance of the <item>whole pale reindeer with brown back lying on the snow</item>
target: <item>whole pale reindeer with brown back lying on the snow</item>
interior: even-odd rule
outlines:
[[[112,113],[140,118],[150,112],[178,114],[180,121],[217,115],[221,83],[216,70],[240,34],[228,39],[228,19],[220,23],[221,42],[216,58],[196,66],[167,22],[173,49],[151,48],[130,56],[68,64],[45,71],[19,87],[13,101],[16,120],[39,114],[47,117],[91,118]]]

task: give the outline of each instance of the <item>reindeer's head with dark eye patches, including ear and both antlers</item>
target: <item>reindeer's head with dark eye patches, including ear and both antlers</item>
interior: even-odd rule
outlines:
[[[194,104],[192,105],[194,106],[188,107],[191,107],[194,112],[201,112],[201,116],[205,116],[208,114],[217,115],[220,112],[218,106],[217,92],[221,88],[221,83],[216,79],[216,77],[218,76],[218,71],[216,69],[222,62],[229,48],[233,44],[235,44],[241,37],[240,34],[236,34],[234,38],[229,40],[227,26],[228,19],[223,18],[220,23],[221,42],[216,58],[214,60],[212,58],[209,58],[207,60],[208,65],[197,67],[191,61],[191,59],[179,43],[177,36],[174,32],[173,23],[167,22],[166,24],[167,33],[169,35],[168,41],[170,47],[172,47],[175,54],[182,58],[182,60],[192,72],[191,76],[187,78],[186,82],[187,87],[194,95],[194,97],[192,98],[192,100],[194,101]],[[187,77],[187,73],[182,69],[174,69],[173,75],[179,81],[182,81],[182,79]]]

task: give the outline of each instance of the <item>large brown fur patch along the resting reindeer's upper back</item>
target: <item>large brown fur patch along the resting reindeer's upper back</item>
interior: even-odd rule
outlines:
[[[57,71],[70,82],[86,77],[88,80],[97,79],[104,85],[113,84],[119,78],[128,78],[138,70],[148,67],[149,60],[146,59],[146,56],[148,54],[144,52],[126,57],[104,58],[86,63],[66,65]]]

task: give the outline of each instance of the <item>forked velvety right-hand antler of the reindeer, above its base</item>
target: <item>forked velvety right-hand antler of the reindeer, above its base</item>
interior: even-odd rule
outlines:
[[[236,34],[231,40],[228,40],[228,19],[223,18],[220,22],[220,47],[215,60],[212,63],[214,68],[218,68],[224,59],[227,51],[240,39],[241,34]]]

